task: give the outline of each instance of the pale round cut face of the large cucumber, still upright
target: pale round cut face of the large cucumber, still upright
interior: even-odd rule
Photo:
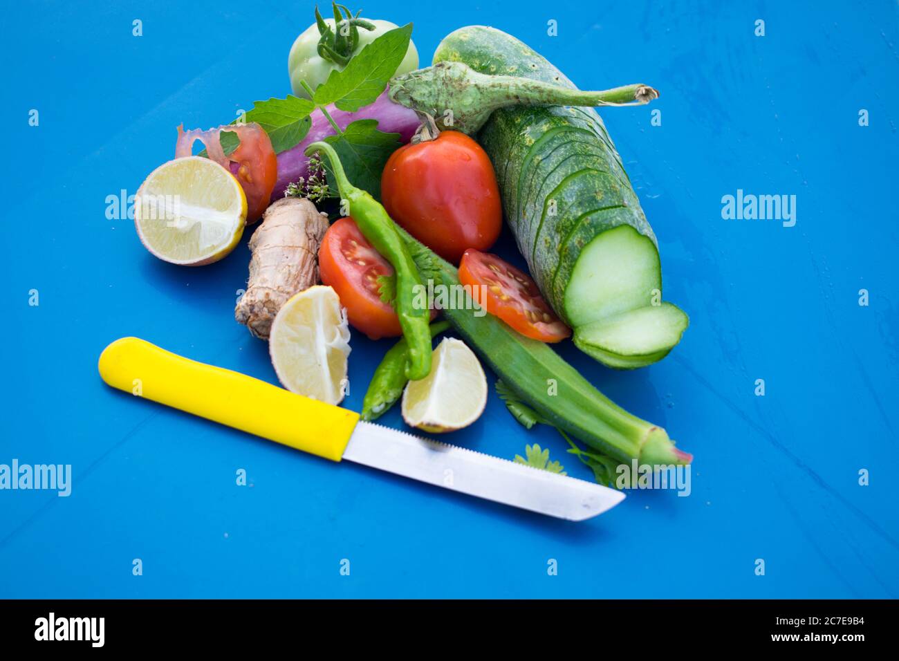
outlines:
[[[565,289],[565,317],[578,328],[649,306],[654,290],[662,290],[655,244],[621,225],[602,232],[581,251]]]

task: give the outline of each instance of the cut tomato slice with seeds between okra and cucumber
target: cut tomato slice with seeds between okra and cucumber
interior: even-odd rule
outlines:
[[[473,288],[484,285],[487,312],[521,335],[540,342],[559,342],[571,335],[530,276],[496,255],[469,248],[458,265],[458,280]]]

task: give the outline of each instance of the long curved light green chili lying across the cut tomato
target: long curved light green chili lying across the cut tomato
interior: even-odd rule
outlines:
[[[349,203],[350,216],[356,221],[363,237],[369,240],[396,272],[396,299],[394,307],[403,336],[408,344],[408,360],[405,364],[405,376],[409,380],[424,379],[431,371],[431,332],[428,324],[431,321],[431,310],[425,306],[415,305],[416,286],[422,287],[422,278],[415,268],[409,247],[403,237],[396,231],[396,225],[382,207],[368,192],[356,188],[346,178],[340,157],[334,147],[326,142],[313,142],[306,148],[306,155],[311,156],[321,151],[331,161],[331,173],[343,201]]]

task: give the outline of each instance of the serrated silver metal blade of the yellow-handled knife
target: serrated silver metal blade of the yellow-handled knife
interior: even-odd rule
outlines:
[[[582,479],[360,422],[343,459],[531,512],[583,521],[624,494]]]

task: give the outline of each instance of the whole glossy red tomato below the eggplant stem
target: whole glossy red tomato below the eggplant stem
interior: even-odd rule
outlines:
[[[455,130],[391,154],[381,201],[390,218],[453,264],[467,248],[493,246],[503,226],[494,166],[480,145]]]

